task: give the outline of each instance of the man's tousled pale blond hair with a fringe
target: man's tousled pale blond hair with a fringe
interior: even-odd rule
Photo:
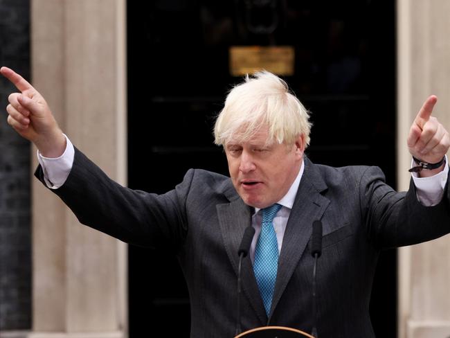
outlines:
[[[312,123],[307,110],[287,83],[269,71],[246,75],[231,89],[215,121],[214,143],[249,141],[263,125],[269,128],[268,143],[292,144],[303,134],[305,147],[309,145]]]

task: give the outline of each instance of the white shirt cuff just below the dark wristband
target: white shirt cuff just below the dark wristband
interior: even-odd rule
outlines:
[[[415,166],[415,161],[411,162],[411,168]],[[444,170],[431,177],[418,177],[417,172],[411,172],[416,188],[417,199],[424,206],[435,206],[439,204],[444,195],[447,177],[449,175],[449,162],[445,157]]]

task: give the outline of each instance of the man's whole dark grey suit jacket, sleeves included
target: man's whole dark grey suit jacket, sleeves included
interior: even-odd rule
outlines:
[[[37,177],[43,180],[41,168]],[[78,220],[125,242],[172,246],[190,293],[191,337],[233,337],[237,249],[251,208],[228,177],[189,170],[174,190],[154,195],[111,181],[75,150],[64,186],[54,190]],[[312,328],[312,222],[323,223],[318,263],[318,334],[321,338],[375,337],[369,318],[372,277],[379,251],[424,242],[450,231],[449,191],[424,207],[396,193],[375,167],[331,168],[305,159],[305,172],[289,216],[278,276],[267,317],[249,256],[244,259],[242,326],[267,323],[306,332]]]

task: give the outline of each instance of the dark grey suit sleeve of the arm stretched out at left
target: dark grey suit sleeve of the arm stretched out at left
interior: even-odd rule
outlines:
[[[78,220],[124,242],[144,247],[178,248],[188,231],[186,198],[194,170],[163,195],[117,184],[75,148],[73,168],[64,185],[52,190]],[[38,166],[35,176],[44,183]]]

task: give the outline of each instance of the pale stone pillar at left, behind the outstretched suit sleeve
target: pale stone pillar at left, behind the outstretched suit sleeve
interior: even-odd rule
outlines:
[[[31,15],[33,85],[74,145],[125,184],[125,0],[33,0]],[[125,337],[126,252],[34,180],[29,337]]]

